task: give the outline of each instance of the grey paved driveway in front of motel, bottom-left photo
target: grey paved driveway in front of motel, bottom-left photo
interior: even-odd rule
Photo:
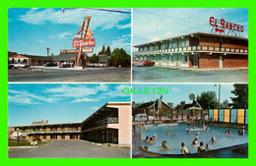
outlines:
[[[130,148],[91,144],[83,140],[52,140],[33,148],[12,148],[9,158],[129,158]]]

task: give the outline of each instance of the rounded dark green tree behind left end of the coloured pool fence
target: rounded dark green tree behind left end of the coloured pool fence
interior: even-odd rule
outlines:
[[[218,99],[215,91],[203,91],[197,95],[197,102],[203,109],[218,108]]]

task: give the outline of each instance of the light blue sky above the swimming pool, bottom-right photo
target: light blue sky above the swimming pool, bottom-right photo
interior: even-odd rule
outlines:
[[[158,88],[168,88],[167,94],[162,94],[162,100],[163,102],[171,102],[176,106],[180,103],[180,101],[185,100],[186,103],[191,103],[192,100],[189,99],[189,92],[187,89],[191,92],[197,95],[200,95],[203,91],[215,91],[217,94],[217,98],[219,95],[219,84],[141,84],[141,83],[133,83],[133,88],[139,90],[141,88],[142,90],[145,89],[145,87],[158,87]],[[228,100],[228,102],[231,102],[230,97],[233,97],[234,95],[230,92],[233,90],[232,84],[222,84],[221,85],[221,102],[223,102],[225,99]],[[155,99],[160,98],[160,94],[155,94]],[[148,102],[151,100],[154,100],[154,94],[152,91],[152,94],[134,94],[132,96],[132,100],[135,102]]]

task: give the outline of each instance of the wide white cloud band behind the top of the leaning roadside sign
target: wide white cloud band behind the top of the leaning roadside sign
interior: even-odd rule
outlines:
[[[111,8],[108,8],[110,10]],[[121,11],[130,11],[130,9],[114,9]],[[90,9],[69,9],[62,13],[60,10],[53,8],[47,9],[31,9],[25,15],[20,16],[19,20],[32,25],[44,25],[47,23],[51,24],[66,24],[76,25],[81,27],[85,16],[91,16],[90,28],[109,29],[113,27],[128,28],[128,25],[119,26],[120,22],[131,18],[130,15],[96,11]]]

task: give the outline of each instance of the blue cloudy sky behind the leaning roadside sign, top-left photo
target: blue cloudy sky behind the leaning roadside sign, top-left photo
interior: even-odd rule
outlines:
[[[111,9],[110,9],[111,10]],[[129,8],[114,9],[130,12]],[[60,49],[73,49],[72,40],[85,16],[91,16],[97,53],[102,45],[124,48],[131,53],[131,15],[89,9],[10,8],[8,10],[8,49],[22,54],[58,55]],[[91,56],[92,54],[89,54]]]

